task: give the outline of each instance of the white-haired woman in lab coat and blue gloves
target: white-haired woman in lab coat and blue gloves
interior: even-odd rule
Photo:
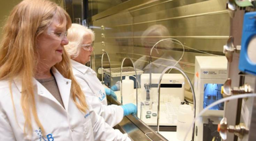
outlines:
[[[104,88],[96,77],[96,73],[84,65],[90,61],[90,56],[94,50],[94,32],[73,23],[67,31],[67,38],[69,44],[65,46],[65,50],[72,59],[73,75],[96,113],[102,116],[105,122],[112,127],[119,124],[124,115],[137,113],[137,107],[132,103],[121,106],[107,105],[106,95],[111,95],[115,99],[117,96],[114,91]]]

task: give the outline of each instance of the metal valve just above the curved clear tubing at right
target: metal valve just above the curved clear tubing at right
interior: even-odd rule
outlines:
[[[247,83],[241,87],[233,87],[231,88],[231,79],[226,80],[224,85],[222,86],[221,91],[223,97],[229,97],[231,95],[238,95],[243,93],[253,93],[253,89],[251,89],[251,86]]]

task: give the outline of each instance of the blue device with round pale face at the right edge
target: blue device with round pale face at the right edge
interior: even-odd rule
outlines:
[[[256,12],[245,13],[239,70],[256,75]]]

